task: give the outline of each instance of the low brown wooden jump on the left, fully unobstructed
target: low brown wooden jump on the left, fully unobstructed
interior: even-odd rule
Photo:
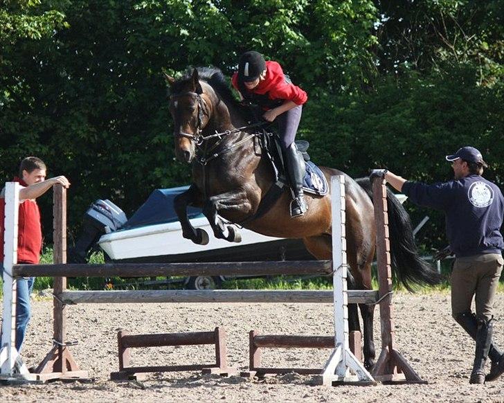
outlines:
[[[201,370],[206,374],[222,376],[235,375],[234,368],[228,368],[226,361],[226,331],[215,328],[213,332],[127,334],[120,330],[117,334],[119,371],[110,373],[110,379],[141,380],[145,373]],[[173,365],[173,366],[129,366],[129,349],[164,346],[215,345],[215,363]]]

